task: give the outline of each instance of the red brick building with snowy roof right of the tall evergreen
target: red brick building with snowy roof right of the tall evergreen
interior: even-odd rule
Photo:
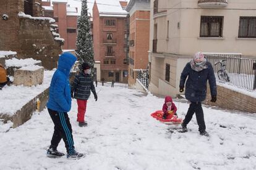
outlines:
[[[127,81],[129,54],[129,17],[127,1],[96,0],[93,6],[93,48],[95,61],[100,62],[97,79]]]

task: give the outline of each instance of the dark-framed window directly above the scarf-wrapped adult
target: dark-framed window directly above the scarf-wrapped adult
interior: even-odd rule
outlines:
[[[222,37],[223,17],[201,16],[200,37]]]

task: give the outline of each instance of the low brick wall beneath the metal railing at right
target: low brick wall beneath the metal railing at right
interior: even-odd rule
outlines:
[[[250,113],[256,113],[256,98],[250,97],[231,89],[222,86],[217,86],[217,101],[216,103],[210,102],[210,88],[207,87],[207,100],[205,103],[208,105],[215,105],[221,108],[228,108],[231,110],[240,110]]]

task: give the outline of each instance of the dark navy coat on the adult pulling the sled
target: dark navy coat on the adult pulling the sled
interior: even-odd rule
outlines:
[[[207,68],[202,71],[192,70],[190,62],[181,73],[181,81],[179,87],[184,87],[186,82],[186,99],[190,102],[202,102],[207,95],[207,80],[210,84],[211,95],[217,95],[216,79],[213,67],[210,62],[206,63]],[[189,78],[187,78],[189,76]]]

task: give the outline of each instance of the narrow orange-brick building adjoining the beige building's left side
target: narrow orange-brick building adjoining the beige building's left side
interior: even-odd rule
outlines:
[[[139,71],[147,69],[150,38],[150,1],[130,0],[129,86],[135,86]]]

